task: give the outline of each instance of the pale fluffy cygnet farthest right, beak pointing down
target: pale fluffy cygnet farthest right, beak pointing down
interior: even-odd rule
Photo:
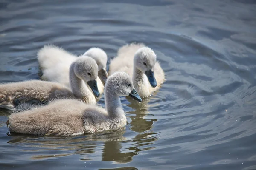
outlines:
[[[166,80],[156,54],[142,43],[131,43],[119,49],[117,57],[110,62],[109,75],[116,71],[124,71],[132,77],[141,97],[150,96]]]

